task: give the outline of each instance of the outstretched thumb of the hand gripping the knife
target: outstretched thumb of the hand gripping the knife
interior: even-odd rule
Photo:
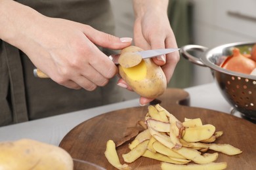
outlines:
[[[86,27],[83,32],[86,37],[93,43],[104,48],[119,50],[131,45],[132,38],[123,37],[119,38],[102,31],[98,31],[93,27]]]

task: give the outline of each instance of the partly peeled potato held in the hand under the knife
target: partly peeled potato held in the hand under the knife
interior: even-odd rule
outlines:
[[[119,59],[125,58],[127,63],[130,64],[129,53],[138,52],[142,49],[137,46],[128,46],[121,50]],[[156,65],[152,59],[142,59],[142,61],[133,67],[125,68],[124,63],[119,65],[119,75],[131,88],[142,97],[156,98],[165,92],[167,88],[167,81],[165,74],[160,66]]]

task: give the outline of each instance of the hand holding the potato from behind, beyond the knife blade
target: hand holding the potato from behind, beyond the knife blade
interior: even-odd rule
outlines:
[[[169,18],[167,16],[167,0],[134,0],[135,10],[134,42],[144,50],[177,48],[177,42]],[[167,83],[171,80],[173,71],[179,61],[179,52],[153,58],[165,73]],[[119,83],[125,84],[123,80]],[[128,90],[131,88],[127,87]],[[146,105],[154,99],[140,97],[140,105]]]

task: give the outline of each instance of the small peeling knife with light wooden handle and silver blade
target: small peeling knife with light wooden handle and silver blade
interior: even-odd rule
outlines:
[[[157,50],[145,50],[145,51],[140,51],[136,53],[138,53],[142,57],[142,59],[146,59],[146,58],[154,58],[157,56],[161,56],[163,54],[169,54],[171,52],[178,51],[179,49],[180,48],[164,48],[164,49],[157,49]],[[118,65],[119,56],[120,54],[112,54],[108,58],[110,58],[116,65]],[[43,73],[39,69],[33,69],[33,75],[39,78],[49,78],[49,76],[47,76],[45,73]]]

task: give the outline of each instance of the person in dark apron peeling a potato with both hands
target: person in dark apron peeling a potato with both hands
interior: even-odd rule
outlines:
[[[135,45],[144,50],[177,47],[167,5],[167,0],[133,1]],[[0,25],[0,125],[122,100],[108,49],[122,49],[132,39],[113,36],[109,1],[0,0]],[[179,53],[154,61],[169,82]],[[34,67],[51,80],[33,77]],[[117,85],[131,90],[123,80]],[[149,101],[140,98],[142,105]]]

